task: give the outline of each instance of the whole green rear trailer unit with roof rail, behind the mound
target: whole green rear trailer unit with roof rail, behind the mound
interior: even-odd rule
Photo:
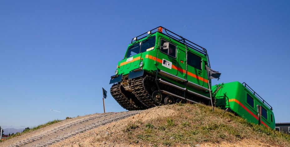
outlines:
[[[211,87],[215,97],[215,106],[229,109],[235,114],[258,124],[257,107],[261,106],[261,124],[275,128],[273,108],[248,84],[239,82],[221,83]]]

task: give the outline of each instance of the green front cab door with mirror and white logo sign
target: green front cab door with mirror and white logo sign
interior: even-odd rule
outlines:
[[[160,47],[157,53],[157,68],[173,74],[177,75],[178,69],[178,48],[176,44],[171,43],[170,41],[159,38]]]

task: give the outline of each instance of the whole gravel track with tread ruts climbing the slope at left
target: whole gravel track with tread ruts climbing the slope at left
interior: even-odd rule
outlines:
[[[67,139],[87,130],[99,127],[104,124],[117,121],[137,114],[140,111],[127,111],[119,113],[91,114],[74,119],[67,119],[62,122],[52,124],[39,130],[15,137],[0,143],[0,146],[9,147],[42,147],[49,146],[60,140]]]

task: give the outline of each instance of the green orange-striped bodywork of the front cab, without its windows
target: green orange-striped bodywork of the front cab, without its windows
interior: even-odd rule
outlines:
[[[130,47],[131,45],[135,44],[135,43],[139,43],[143,40],[146,40],[147,38],[150,37],[156,37],[156,43],[154,46],[153,50],[150,51],[145,51],[143,53],[138,53],[133,57],[133,61],[128,61],[128,58],[124,58],[123,60],[118,62],[118,73],[117,74],[123,74],[123,76],[127,75],[130,71],[140,68],[139,67],[139,63],[141,62],[141,60],[143,61],[143,66],[142,69],[146,72],[146,73],[154,73],[154,71],[156,71],[157,69],[163,70],[167,73],[176,75],[180,78],[183,79],[187,79],[188,81],[191,81],[195,84],[201,85],[205,88],[208,88],[208,84],[207,84],[207,73],[206,73],[206,69],[205,69],[205,65],[207,65],[207,57],[206,55],[197,52],[196,50],[193,50],[189,47],[187,47],[188,52],[191,52],[197,56],[199,56],[202,60],[202,69],[196,69],[193,68],[191,66],[187,66],[187,71],[188,74],[186,75],[186,48],[185,45],[164,35],[163,33],[160,32],[155,32],[153,34],[149,34],[147,37],[141,38],[139,40],[134,41],[133,43],[129,44],[128,47]],[[161,39],[166,40],[167,42],[170,42],[172,44],[174,44],[176,46],[176,58],[172,58],[171,56],[168,56],[165,53],[162,53],[160,51],[161,48]],[[127,49],[128,52],[128,49]],[[127,54],[126,52],[126,54]],[[125,54],[125,57],[126,57]],[[129,58],[132,58],[129,57]],[[172,68],[167,68],[165,66],[162,65],[162,60],[165,59],[167,61],[170,61],[172,63]],[[182,63],[183,62],[183,63]],[[159,76],[159,75],[158,75]],[[185,87],[183,83],[179,83],[176,82],[175,80],[169,79],[167,77],[162,77],[163,79],[167,79],[168,81],[172,82],[172,84],[176,84],[180,87]],[[192,89],[192,88],[188,88],[189,90],[201,93],[203,95],[209,95],[208,92],[201,92],[198,91],[196,89]]]

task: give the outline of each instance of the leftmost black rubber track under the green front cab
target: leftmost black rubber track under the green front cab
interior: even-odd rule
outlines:
[[[140,106],[136,104],[130,103],[130,100],[126,97],[125,94],[121,91],[121,84],[114,84],[110,89],[110,93],[113,98],[124,108],[127,110],[140,110],[142,109]]]

